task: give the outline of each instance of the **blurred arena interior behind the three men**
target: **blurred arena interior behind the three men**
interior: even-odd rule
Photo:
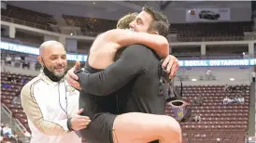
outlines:
[[[20,93],[41,70],[39,45],[57,40],[65,45],[69,67],[75,60],[84,64],[97,34],[144,5],[161,10],[171,23],[170,54],[179,59],[182,96],[193,116],[181,123],[183,142],[255,143],[253,1],[1,1],[2,142],[31,137]],[[166,114],[173,116],[168,105]]]

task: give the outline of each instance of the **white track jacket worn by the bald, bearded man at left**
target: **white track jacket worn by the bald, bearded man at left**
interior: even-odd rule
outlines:
[[[32,132],[30,143],[81,143],[67,129],[67,119],[78,112],[79,92],[66,83],[52,82],[43,72],[21,90],[21,106]]]

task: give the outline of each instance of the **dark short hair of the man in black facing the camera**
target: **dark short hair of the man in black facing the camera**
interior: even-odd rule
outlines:
[[[151,15],[153,21],[149,25],[149,31],[156,31],[160,35],[167,37],[169,34],[169,21],[167,17],[160,11],[155,10],[153,7],[145,6],[142,8],[142,11],[145,11]]]

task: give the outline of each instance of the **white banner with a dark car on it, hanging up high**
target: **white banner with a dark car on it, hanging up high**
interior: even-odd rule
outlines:
[[[230,8],[194,8],[187,9],[188,22],[216,22],[230,20]]]

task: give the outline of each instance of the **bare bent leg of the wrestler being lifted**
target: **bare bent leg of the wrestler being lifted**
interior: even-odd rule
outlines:
[[[116,118],[113,129],[114,143],[181,143],[178,122],[166,115],[124,113]]]

